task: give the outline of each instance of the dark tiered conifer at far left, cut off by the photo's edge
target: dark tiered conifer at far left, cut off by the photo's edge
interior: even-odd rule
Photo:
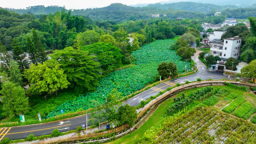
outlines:
[[[5,46],[2,44],[0,41],[0,71],[5,71],[6,73],[8,72],[8,68],[10,68],[9,61],[11,59],[11,55],[7,52]]]

